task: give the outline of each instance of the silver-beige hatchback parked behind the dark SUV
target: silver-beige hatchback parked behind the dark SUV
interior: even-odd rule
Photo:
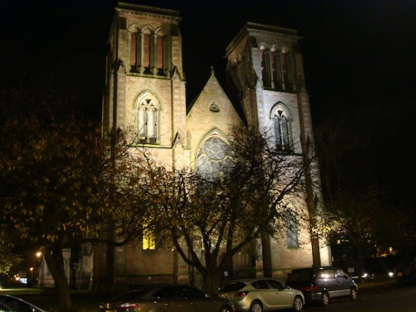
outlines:
[[[268,278],[229,281],[220,288],[218,295],[232,302],[238,312],[290,308],[301,311],[305,301],[302,292],[286,286],[281,281]]]

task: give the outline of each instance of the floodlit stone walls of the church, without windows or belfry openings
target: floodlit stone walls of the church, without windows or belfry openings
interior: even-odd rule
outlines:
[[[177,11],[119,3],[110,31],[110,53],[107,57],[107,77],[103,101],[103,130],[113,126],[129,130],[135,135],[138,101],[148,92],[157,103],[157,142],[141,144],[166,166],[195,166],[198,150],[210,136],[226,139],[229,127],[246,121],[262,129],[273,129],[272,112],[281,105],[291,122],[291,153],[305,152],[306,141],[313,141],[309,96],[306,92],[302,55],[297,44],[297,31],[259,24],[247,24],[227,46],[227,74],[234,84],[234,94],[226,94],[218,83],[214,70],[205,87],[193,103],[187,103],[185,80],[182,72],[182,37]],[[132,31],[163,29],[168,42],[168,71],[165,76],[131,71]],[[264,53],[291,53],[290,79],[277,80],[265,87],[263,80]],[[187,56],[184,55],[186,58]],[[286,59],[285,59],[286,60]],[[269,64],[272,68],[274,63]],[[222,69],[216,69],[222,70]],[[286,72],[282,71],[282,75]],[[277,79],[277,78],[276,78]],[[283,79],[283,78],[282,78]],[[290,81],[289,81],[290,80]],[[286,83],[286,85],[285,85]],[[287,87],[290,85],[290,88]],[[283,86],[283,87],[282,87]],[[285,87],[286,86],[286,87]],[[285,89],[287,88],[287,89]],[[233,99],[233,103],[230,100]],[[235,100],[237,99],[237,100]],[[189,113],[187,113],[187,105]],[[242,107],[241,114],[235,107]],[[313,179],[311,189],[322,207],[319,178]],[[308,215],[306,200],[297,203],[297,209]],[[270,239],[266,257],[270,268],[263,267],[261,245],[253,243],[250,254],[237,254],[233,259],[234,277],[250,277],[270,272],[286,279],[293,269],[311,266],[313,246],[308,227],[300,227],[299,244],[288,248],[286,238]],[[322,263],[330,264],[330,252],[319,246]],[[322,252],[322,250],[324,250]],[[96,266],[105,268],[106,251],[94,250]],[[263,253],[264,254],[264,253]],[[114,273],[119,284],[141,284],[145,281],[193,280],[189,268],[173,249],[143,250],[141,243],[129,244],[114,250]],[[95,277],[101,270],[94,269]]]

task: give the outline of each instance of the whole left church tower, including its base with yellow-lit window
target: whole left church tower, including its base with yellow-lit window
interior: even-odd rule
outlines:
[[[179,22],[176,10],[119,2],[103,96],[103,132],[125,131],[132,151],[144,148],[167,168],[190,162]],[[187,281],[179,258],[149,234],[122,247],[96,246],[93,275],[110,285]]]

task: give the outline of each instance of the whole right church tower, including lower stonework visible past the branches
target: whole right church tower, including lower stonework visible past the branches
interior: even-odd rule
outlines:
[[[309,94],[306,92],[302,54],[297,31],[262,24],[247,23],[227,46],[227,83],[230,92],[242,106],[248,125],[268,131],[281,153],[304,157],[309,164],[313,155],[313,130]],[[302,156],[301,156],[302,155]],[[308,165],[309,166],[309,165]],[[322,195],[317,162],[305,173],[305,206],[311,224],[322,209]],[[297,252],[297,259],[313,260],[313,265],[329,265],[329,248],[309,233],[309,252]],[[286,232],[286,238],[292,234]],[[263,237],[263,266],[266,275],[275,275],[275,264],[285,268],[295,241],[287,241],[287,248]],[[309,258],[310,259],[310,258]],[[293,261],[291,261],[293,266]],[[307,261],[304,261],[307,263]],[[277,272],[277,274],[279,274]]]

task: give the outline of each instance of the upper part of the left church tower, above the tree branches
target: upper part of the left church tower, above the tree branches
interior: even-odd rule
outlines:
[[[175,165],[187,142],[179,12],[119,2],[110,29],[103,130]],[[178,144],[180,142],[180,144]],[[178,158],[179,157],[179,158]]]

